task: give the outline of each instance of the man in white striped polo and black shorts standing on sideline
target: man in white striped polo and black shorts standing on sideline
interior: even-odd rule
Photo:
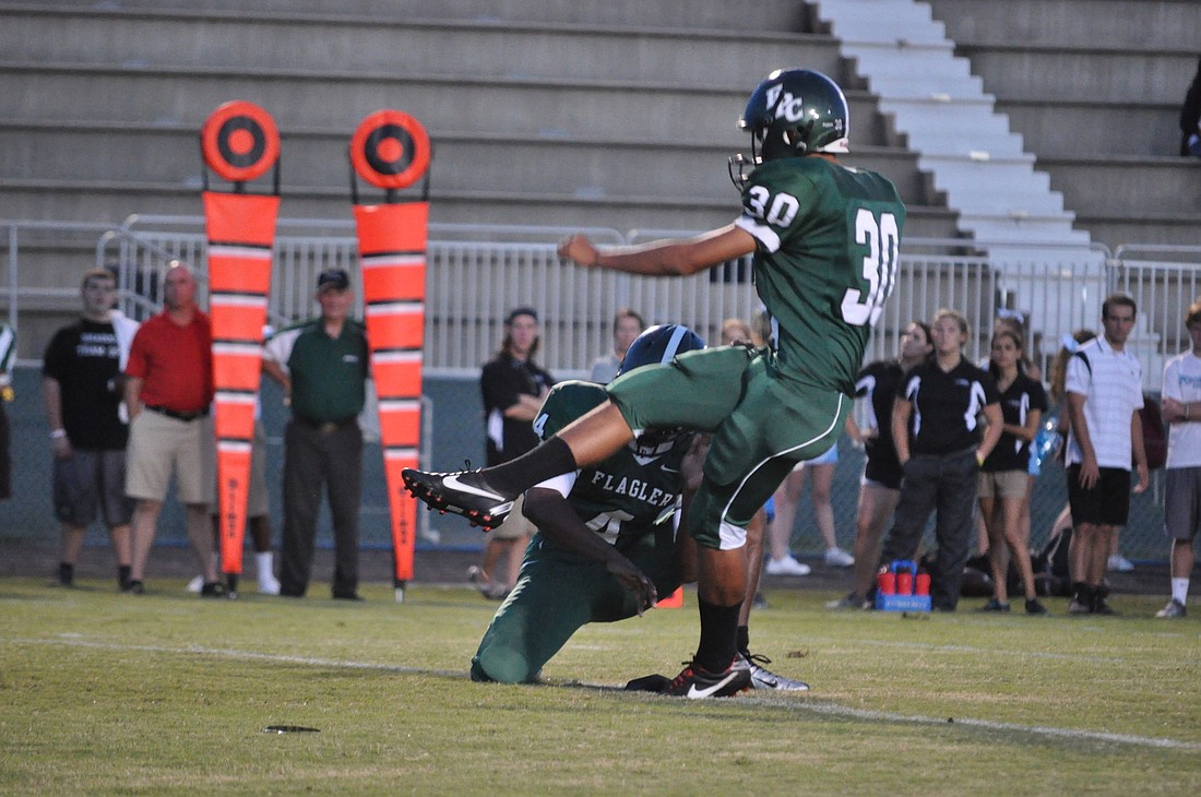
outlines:
[[[1074,532],[1070,562],[1075,582],[1070,615],[1112,615],[1101,581],[1112,538],[1130,511],[1130,463],[1147,489],[1142,448],[1142,367],[1127,350],[1136,305],[1111,294],[1101,305],[1104,335],[1080,347],[1068,361],[1068,502]]]

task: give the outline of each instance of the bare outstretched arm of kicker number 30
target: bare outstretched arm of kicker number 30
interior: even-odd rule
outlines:
[[[598,250],[586,235],[558,245],[558,256],[586,269],[610,269],[646,276],[687,276],[754,252],[751,233],[729,224],[695,238]]]

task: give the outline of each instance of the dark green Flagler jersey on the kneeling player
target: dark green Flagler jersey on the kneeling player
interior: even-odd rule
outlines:
[[[549,438],[608,398],[603,385],[561,382],[546,396],[534,431]],[[680,465],[692,435],[679,435],[659,444],[632,443],[576,474],[567,497],[580,520],[610,543],[619,537],[646,534],[667,521],[680,496]]]

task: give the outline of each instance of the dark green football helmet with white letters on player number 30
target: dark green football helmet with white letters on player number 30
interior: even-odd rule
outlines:
[[[749,161],[729,161],[730,180],[741,190],[748,167],[764,161],[848,151],[850,114],[842,89],[825,74],[776,70],[751,95],[739,128],[751,133]]]

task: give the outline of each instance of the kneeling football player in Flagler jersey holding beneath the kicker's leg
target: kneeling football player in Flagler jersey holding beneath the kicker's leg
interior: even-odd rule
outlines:
[[[619,376],[701,349],[686,326],[647,329],[629,347]],[[534,427],[545,439],[604,403],[604,386],[563,382],[546,397]],[[585,623],[641,615],[658,595],[695,580],[691,539],[676,539],[677,508],[700,483],[705,444],[682,429],[649,430],[604,462],[549,479],[526,492],[526,516],[538,526],[521,574],[471,661],[472,681],[525,683]],[[807,689],[764,669],[743,651],[741,666],[759,689]],[[643,679],[639,679],[643,681]],[[662,691],[667,679],[634,688]]]

